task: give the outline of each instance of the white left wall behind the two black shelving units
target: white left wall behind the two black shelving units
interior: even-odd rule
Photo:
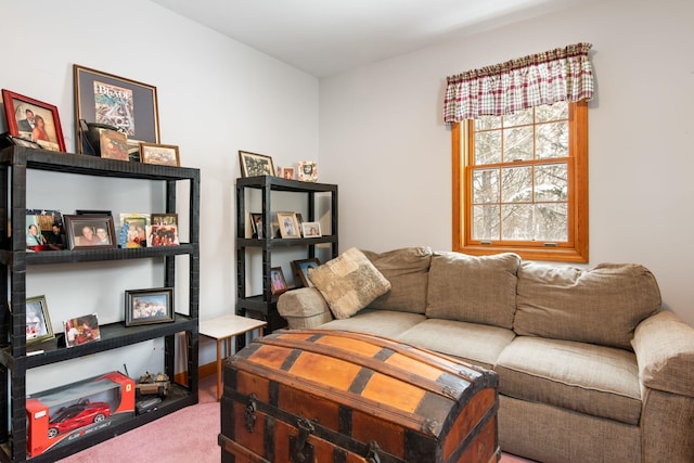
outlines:
[[[5,51],[0,87],[57,106],[68,152],[75,152],[73,64],[157,88],[162,143],[179,145],[181,165],[201,169],[201,318],[233,312],[237,151],[270,155],[279,166],[304,158],[318,160],[318,79],[149,1],[2,0],[0,17],[0,42]],[[0,119],[0,131],[4,131],[4,117]],[[37,188],[41,191],[35,194],[48,202],[60,196],[51,196],[52,191],[61,192],[64,187],[40,182]],[[72,202],[62,198],[60,208],[64,214],[76,208],[116,213],[115,196],[125,190],[112,187],[114,195],[103,201],[86,191]],[[151,203],[145,202],[144,207]],[[101,287],[93,276],[95,269],[72,271],[77,280],[94,282],[85,293],[74,295],[72,304],[62,296],[60,283],[49,278],[30,282],[31,291],[47,295],[56,330],[66,316],[97,308],[105,320],[121,317],[121,293],[132,287],[123,287],[120,281]],[[131,284],[147,284],[147,280]],[[146,349],[141,359],[150,357]],[[125,357],[129,362],[139,360],[132,355],[108,357],[98,358],[106,359],[108,368],[121,368]],[[214,358],[211,343],[201,339],[201,364]]]

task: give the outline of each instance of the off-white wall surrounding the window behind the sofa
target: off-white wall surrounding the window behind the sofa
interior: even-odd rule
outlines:
[[[451,247],[446,76],[591,42],[590,266],[638,262],[694,323],[694,2],[586,1],[320,82],[321,178],[340,247]]]

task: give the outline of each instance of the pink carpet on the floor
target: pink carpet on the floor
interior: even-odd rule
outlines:
[[[75,453],[61,463],[219,463],[219,402],[215,376],[200,382],[200,403]],[[527,463],[503,454],[500,463]]]

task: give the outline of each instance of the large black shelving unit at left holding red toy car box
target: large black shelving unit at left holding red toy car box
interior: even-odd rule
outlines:
[[[136,415],[126,422],[108,426],[77,439],[75,442],[30,458],[33,462],[52,462],[87,449],[129,429],[167,415],[181,408],[197,403],[197,326],[200,298],[200,170],[182,167],[156,166],[102,159],[68,153],[53,153],[22,146],[0,151],[0,236],[5,240],[0,250],[0,291],[9,295],[12,310],[2,305],[0,324],[0,461],[29,460],[27,453],[26,372],[37,366],[106,352],[124,346],[150,339],[164,339],[164,368],[175,378],[176,336],[185,334],[187,372],[181,384],[172,382],[164,402],[154,411]],[[26,250],[26,191],[27,169],[60,173],[77,173],[92,177],[117,177],[164,182],[166,185],[166,213],[176,213],[176,189],[179,182],[190,185],[190,242],[180,246],[153,248],[111,248],[80,250]],[[8,230],[10,227],[11,230]],[[11,234],[8,233],[11,231]],[[172,323],[125,326],[125,322],[100,325],[101,339],[72,348],[55,340],[30,346],[41,349],[27,356],[26,346],[26,273],[31,267],[55,263],[79,263],[126,259],[160,259],[164,262],[165,286],[176,284],[176,256],[190,259],[188,313],[176,313]],[[125,291],[125,288],[124,288]],[[180,306],[180,301],[179,301]],[[180,309],[180,307],[179,307]]]

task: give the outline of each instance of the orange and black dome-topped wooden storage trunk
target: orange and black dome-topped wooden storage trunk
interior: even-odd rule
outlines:
[[[497,384],[382,337],[271,334],[226,362],[222,462],[497,462]]]

